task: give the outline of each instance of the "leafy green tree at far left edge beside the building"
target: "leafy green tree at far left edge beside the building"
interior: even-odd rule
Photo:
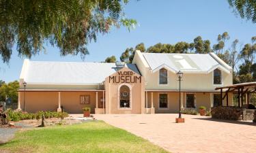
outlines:
[[[20,88],[18,81],[3,84],[0,87],[0,97],[4,97],[4,99],[1,100],[5,100],[5,97],[10,97],[12,102],[18,102],[18,88]]]

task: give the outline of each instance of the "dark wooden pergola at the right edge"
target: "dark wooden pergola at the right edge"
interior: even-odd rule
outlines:
[[[221,104],[223,105],[223,100],[226,98],[227,106],[229,106],[229,99],[228,99],[228,93],[229,92],[236,92],[238,93],[238,107],[242,107],[244,104],[244,98],[243,96],[246,95],[246,101],[247,104],[249,104],[249,95],[253,92],[256,92],[256,82],[246,82],[242,84],[233,84],[230,86],[222,86],[217,87],[215,90],[221,90]],[[223,92],[225,92],[225,95],[223,97]],[[241,105],[240,105],[241,103]]]

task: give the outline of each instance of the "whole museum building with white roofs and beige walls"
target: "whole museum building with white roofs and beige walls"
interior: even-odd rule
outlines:
[[[218,86],[232,84],[232,68],[216,54],[145,53],[131,64],[25,60],[20,73],[18,109],[93,114],[154,114],[227,105]],[[25,84],[24,84],[25,83]],[[25,85],[25,86],[24,86]],[[232,93],[225,96],[233,105]],[[223,101],[225,101],[223,99]]]

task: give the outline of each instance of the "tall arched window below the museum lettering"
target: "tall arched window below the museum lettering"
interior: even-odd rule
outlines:
[[[130,108],[130,88],[126,85],[122,85],[119,90],[120,108]]]

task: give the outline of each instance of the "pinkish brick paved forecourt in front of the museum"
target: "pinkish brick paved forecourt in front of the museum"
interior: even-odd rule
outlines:
[[[170,152],[256,152],[256,126],[252,122],[212,120],[177,114],[94,115],[98,120],[125,129]]]

